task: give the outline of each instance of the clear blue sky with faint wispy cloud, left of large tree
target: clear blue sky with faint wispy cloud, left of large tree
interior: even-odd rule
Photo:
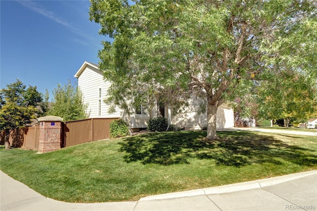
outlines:
[[[19,78],[45,93],[86,61],[98,63],[100,25],[89,20],[89,0],[0,0],[0,88]]]

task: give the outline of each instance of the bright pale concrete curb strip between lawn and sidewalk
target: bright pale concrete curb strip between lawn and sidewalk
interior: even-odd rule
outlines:
[[[254,180],[249,182],[223,185],[223,186],[212,187],[212,188],[203,188],[203,189],[197,189],[197,190],[181,191],[181,192],[175,192],[175,193],[148,196],[148,197],[141,198],[139,201],[175,199],[175,198],[183,198],[183,197],[191,197],[191,196],[223,194],[223,193],[229,193],[229,192],[244,191],[244,190],[263,188],[263,187],[267,187],[271,185],[276,185],[283,182],[288,182],[290,180],[299,179],[305,176],[314,175],[314,174],[317,174],[317,170],[294,173],[294,174],[277,176],[277,177],[260,179],[260,180]]]

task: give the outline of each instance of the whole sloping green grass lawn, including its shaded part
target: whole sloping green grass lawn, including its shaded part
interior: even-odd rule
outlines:
[[[66,202],[132,201],[317,169],[317,138],[248,131],[142,134],[46,154],[1,146],[0,168]]]

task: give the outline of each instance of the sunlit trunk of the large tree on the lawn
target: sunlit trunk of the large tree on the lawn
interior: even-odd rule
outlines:
[[[207,139],[216,140],[219,139],[216,131],[216,117],[217,117],[217,105],[209,104],[207,108]]]

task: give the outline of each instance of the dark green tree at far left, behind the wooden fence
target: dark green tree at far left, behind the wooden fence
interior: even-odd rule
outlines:
[[[5,149],[9,149],[10,132],[31,123],[43,99],[36,86],[26,88],[19,79],[6,87],[0,90],[0,130],[5,130]]]

